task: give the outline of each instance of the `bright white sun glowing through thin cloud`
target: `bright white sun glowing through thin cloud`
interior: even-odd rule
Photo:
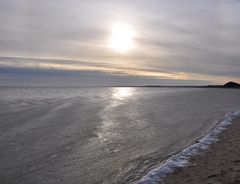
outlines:
[[[126,23],[115,23],[109,40],[109,47],[118,51],[126,52],[134,47],[134,31]]]

